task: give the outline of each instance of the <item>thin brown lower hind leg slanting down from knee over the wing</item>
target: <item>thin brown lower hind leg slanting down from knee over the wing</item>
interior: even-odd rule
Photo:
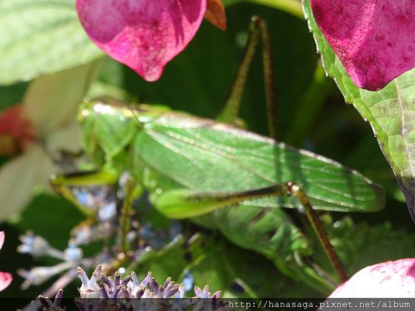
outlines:
[[[304,212],[308,218],[308,221],[311,223],[315,234],[317,235],[320,244],[322,245],[324,252],[329,257],[331,264],[333,265],[335,271],[338,273],[340,277],[340,281],[345,282],[347,281],[347,276],[343,270],[342,264],[340,263],[340,259],[336,254],[333,245],[331,245],[329,238],[324,230],[324,227],[317,216],[317,213],[311,206],[310,201],[307,198],[306,193],[302,189],[302,187],[295,182],[287,182],[287,194],[290,196],[294,196],[299,200],[302,207],[304,208]]]

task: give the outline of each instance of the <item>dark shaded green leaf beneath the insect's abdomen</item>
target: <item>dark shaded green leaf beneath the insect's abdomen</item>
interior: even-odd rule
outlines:
[[[203,288],[209,284],[210,292],[221,290],[225,297],[295,296],[293,288],[301,288],[304,295],[316,294],[282,275],[264,256],[236,247],[220,236],[177,238],[160,251],[145,254],[129,270],[139,276],[151,271],[160,283],[168,276],[180,283],[190,272],[194,285]],[[193,294],[192,290],[187,293]]]

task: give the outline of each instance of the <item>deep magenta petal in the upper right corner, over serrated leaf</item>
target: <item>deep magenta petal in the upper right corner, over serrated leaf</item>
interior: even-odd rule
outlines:
[[[412,0],[311,0],[315,21],[360,88],[376,91],[415,67]]]

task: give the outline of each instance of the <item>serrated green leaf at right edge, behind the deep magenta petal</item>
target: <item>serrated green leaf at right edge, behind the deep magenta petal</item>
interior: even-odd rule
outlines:
[[[303,8],[326,73],[335,79],[344,99],[370,122],[415,220],[415,69],[394,79],[381,91],[358,88],[317,28],[309,0],[303,1]]]

